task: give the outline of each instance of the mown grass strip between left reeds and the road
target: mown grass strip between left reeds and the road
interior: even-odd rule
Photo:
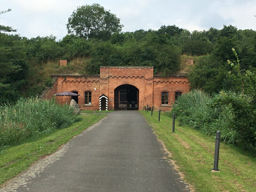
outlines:
[[[104,116],[106,115],[82,115],[82,121],[76,122],[70,127],[54,130],[47,136],[35,141],[6,148],[4,155],[0,155],[0,186],[5,181],[26,170],[42,156],[52,154],[61,145],[67,143]]]

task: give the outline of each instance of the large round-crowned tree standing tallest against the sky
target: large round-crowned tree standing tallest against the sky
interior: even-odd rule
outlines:
[[[123,25],[115,14],[105,10],[100,4],[83,5],[68,18],[68,34],[86,38],[109,39],[116,31],[121,31]]]

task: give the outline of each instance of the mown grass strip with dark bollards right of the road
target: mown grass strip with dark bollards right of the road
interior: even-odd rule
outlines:
[[[254,192],[256,188],[256,159],[246,156],[236,148],[220,144],[220,172],[210,172],[213,168],[215,139],[193,130],[178,126],[172,133],[172,118],[158,112],[141,111],[148,123],[171,152],[170,159],[185,174],[185,180],[199,192]]]

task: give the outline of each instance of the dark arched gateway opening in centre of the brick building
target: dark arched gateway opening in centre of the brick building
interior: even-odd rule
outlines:
[[[114,98],[115,110],[138,110],[139,108],[139,89],[130,84],[116,87]]]

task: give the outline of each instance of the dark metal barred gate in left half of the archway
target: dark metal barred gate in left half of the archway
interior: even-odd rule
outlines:
[[[127,110],[127,90],[115,89],[115,110]]]

